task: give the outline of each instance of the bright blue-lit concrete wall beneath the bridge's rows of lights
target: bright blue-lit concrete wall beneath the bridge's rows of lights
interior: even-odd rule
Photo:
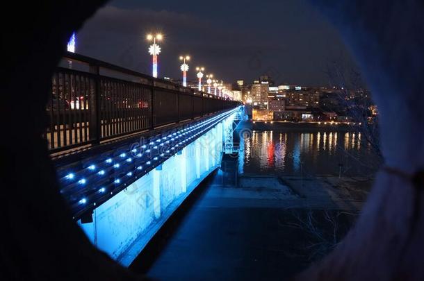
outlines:
[[[92,244],[129,266],[188,194],[219,167],[223,123],[97,207],[92,223],[79,221]]]

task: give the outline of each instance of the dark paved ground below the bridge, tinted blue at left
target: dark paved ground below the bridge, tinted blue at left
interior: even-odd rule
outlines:
[[[197,187],[133,271],[157,280],[286,280],[334,246],[334,227],[337,240],[345,235],[370,186],[330,176],[227,172]]]

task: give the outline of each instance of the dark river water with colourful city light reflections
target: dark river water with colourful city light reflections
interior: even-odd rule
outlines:
[[[340,137],[343,136],[343,137]],[[282,173],[347,176],[375,172],[380,162],[360,133],[279,133],[254,131],[240,141],[239,173]]]

